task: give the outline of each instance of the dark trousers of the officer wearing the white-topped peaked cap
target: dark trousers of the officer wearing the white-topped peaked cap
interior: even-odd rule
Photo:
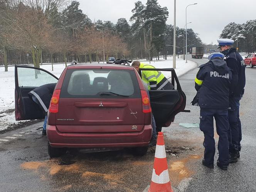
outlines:
[[[241,130],[241,121],[239,118],[239,106],[241,97],[232,97],[229,98],[229,130],[228,130],[228,138],[229,138],[229,151],[232,152],[234,150],[241,149],[241,140],[242,140],[242,130]]]

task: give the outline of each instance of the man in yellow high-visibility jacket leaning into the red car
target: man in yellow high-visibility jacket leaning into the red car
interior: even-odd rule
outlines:
[[[133,61],[132,67],[138,71],[142,80],[147,83],[148,90],[171,90],[174,86],[168,81],[168,79],[160,71],[140,71],[140,68],[155,69],[154,66],[140,63],[139,61]],[[156,128],[157,133],[162,131],[162,127]]]

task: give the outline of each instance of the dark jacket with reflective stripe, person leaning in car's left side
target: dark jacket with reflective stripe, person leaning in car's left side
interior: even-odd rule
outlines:
[[[49,83],[42,85],[38,88],[33,89],[30,91],[29,98],[32,99],[32,96],[35,96],[37,104],[40,106],[40,108],[47,112],[50,106],[52,94],[54,91],[54,88],[56,86],[56,83]]]

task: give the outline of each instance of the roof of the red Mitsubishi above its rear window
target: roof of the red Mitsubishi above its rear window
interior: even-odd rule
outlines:
[[[121,64],[76,64],[68,66],[68,69],[122,69],[122,70],[134,70],[131,66]]]

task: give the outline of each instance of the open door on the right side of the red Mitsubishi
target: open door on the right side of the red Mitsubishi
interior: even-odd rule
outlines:
[[[184,111],[186,96],[182,91],[179,79],[173,68],[167,69],[143,69],[141,71],[170,71],[172,73],[172,90],[150,90],[150,103],[157,127],[168,127],[173,122],[175,115]],[[176,86],[176,88],[175,88]]]

